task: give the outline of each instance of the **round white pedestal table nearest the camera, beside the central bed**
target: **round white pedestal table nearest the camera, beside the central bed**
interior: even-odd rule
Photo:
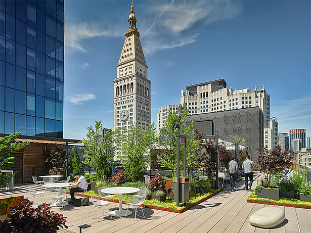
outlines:
[[[131,194],[136,193],[140,191],[138,188],[132,188],[132,187],[112,187],[112,188],[106,188],[102,189],[101,192],[106,194],[118,194],[119,195],[119,209],[114,210],[110,212],[111,216],[114,217],[124,217],[126,211],[122,209],[122,194]],[[131,215],[131,211],[128,210],[126,216]]]

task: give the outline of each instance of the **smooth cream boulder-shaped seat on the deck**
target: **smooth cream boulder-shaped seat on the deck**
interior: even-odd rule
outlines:
[[[285,220],[285,213],[277,207],[264,207],[249,216],[248,221],[253,226],[271,228]]]

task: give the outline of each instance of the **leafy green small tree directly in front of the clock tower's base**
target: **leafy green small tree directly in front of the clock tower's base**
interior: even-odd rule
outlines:
[[[125,167],[125,175],[128,181],[138,181],[143,176],[143,169],[150,163],[150,149],[156,142],[154,123],[143,126],[136,121],[125,133],[120,133],[120,150],[118,157]],[[148,156],[144,154],[148,153]]]

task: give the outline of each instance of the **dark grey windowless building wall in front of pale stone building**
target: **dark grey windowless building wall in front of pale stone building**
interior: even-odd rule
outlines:
[[[245,145],[250,149],[249,155],[254,162],[257,161],[258,150],[263,149],[263,115],[259,107],[202,113],[191,115],[190,119],[195,122],[212,120],[214,134],[227,138],[231,135],[245,138]],[[211,127],[212,124],[209,125]],[[200,132],[205,133],[202,124],[197,126]]]

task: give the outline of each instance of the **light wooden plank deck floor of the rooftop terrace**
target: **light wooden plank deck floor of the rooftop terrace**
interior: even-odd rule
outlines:
[[[256,185],[254,181],[253,187]],[[230,184],[227,184],[227,187]],[[231,192],[226,188],[223,192],[192,207],[182,214],[166,211],[146,209],[144,211],[146,218],[139,220],[130,220],[125,218],[107,219],[109,216],[90,220],[94,206],[85,207],[66,206],[62,211],[60,208],[53,208],[57,213],[63,213],[67,216],[68,230],[60,232],[79,232],[78,225],[89,224],[92,227],[83,229],[82,232],[240,232],[240,233],[259,233],[259,232],[311,232],[311,210],[281,207],[285,211],[286,219],[281,225],[263,229],[251,226],[248,217],[254,211],[264,207],[263,204],[247,203],[250,192],[243,190],[244,180],[238,182],[238,191]],[[22,189],[23,190],[23,189]],[[2,192],[0,192],[2,193]],[[29,197],[25,193],[25,197]],[[48,192],[45,195],[46,201],[51,203]],[[40,198],[36,197],[35,204],[40,204]],[[125,205],[123,205],[125,208]],[[114,208],[114,204],[110,204]],[[95,215],[97,216],[97,208]],[[129,216],[134,219],[134,214]]]

